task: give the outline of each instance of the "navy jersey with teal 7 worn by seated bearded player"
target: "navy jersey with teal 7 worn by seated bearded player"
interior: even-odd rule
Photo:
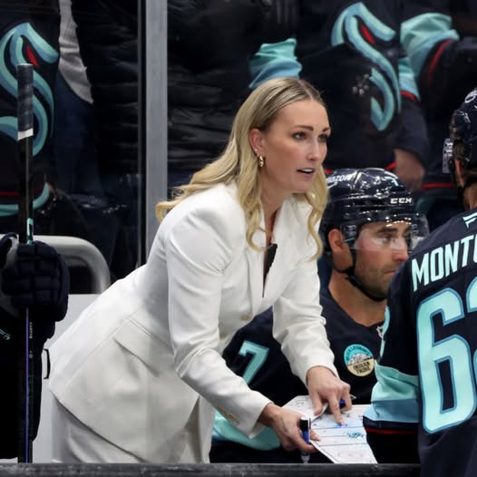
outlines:
[[[381,326],[366,327],[356,323],[337,305],[327,288],[322,288],[320,302],[338,374],[351,385],[355,403],[369,403],[375,385],[375,357],[379,355]],[[272,336],[272,323],[269,308],[238,331],[224,350],[223,357],[252,389],[266,395],[275,404],[283,405],[297,395],[307,394],[307,387],[292,374],[287,358]],[[214,440],[240,443],[264,451],[280,446],[272,429],[266,428],[257,437],[248,439],[220,414],[216,415],[214,423]]]

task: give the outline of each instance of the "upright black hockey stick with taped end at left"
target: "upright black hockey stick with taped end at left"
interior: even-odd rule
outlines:
[[[33,241],[33,197],[31,192],[30,163],[33,156],[34,106],[33,106],[33,66],[21,63],[16,67],[18,82],[18,238],[21,243]],[[22,319],[23,318],[23,319]],[[33,396],[34,396],[34,348],[33,330],[28,309],[20,317],[23,339],[19,340],[19,424],[18,424],[18,462],[32,462],[33,453]],[[21,335],[22,336],[22,335]]]

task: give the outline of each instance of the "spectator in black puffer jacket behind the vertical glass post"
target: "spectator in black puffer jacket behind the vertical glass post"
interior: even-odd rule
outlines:
[[[112,265],[113,278],[124,277],[140,259],[138,4],[72,1],[80,51],[92,84],[99,169],[110,207],[106,211],[112,210],[115,218],[106,227],[109,243],[100,248]],[[295,0],[169,0],[167,5],[171,191],[187,183],[226,146],[234,113],[249,92],[248,60],[267,39],[287,38]],[[287,71],[277,63],[275,76]]]

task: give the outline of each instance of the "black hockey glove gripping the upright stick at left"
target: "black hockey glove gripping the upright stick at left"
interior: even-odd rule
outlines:
[[[12,245],[2,271],[2,292],[10,298],[14,308],[27,307],[32,320],[54,324],[63,319],[70,289],[70,276],[63,258],[43,242],[25,245],[15,244],[15,238],[9,239]]]

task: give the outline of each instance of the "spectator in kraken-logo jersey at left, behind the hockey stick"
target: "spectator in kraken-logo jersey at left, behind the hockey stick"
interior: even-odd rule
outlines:
[[[18,184],[16,65],[34,65],[34,145],[31,182],[34,209],[47,209],[54,198],[53,122],[54,78],[58,67],[60,14],[57,0],[31,5],[18,0],[0,5],[0,232],[16,229]],[[45,217],[46,216],[46,217]],[[51,214],[38,216],[41,232],[48,229]]]

